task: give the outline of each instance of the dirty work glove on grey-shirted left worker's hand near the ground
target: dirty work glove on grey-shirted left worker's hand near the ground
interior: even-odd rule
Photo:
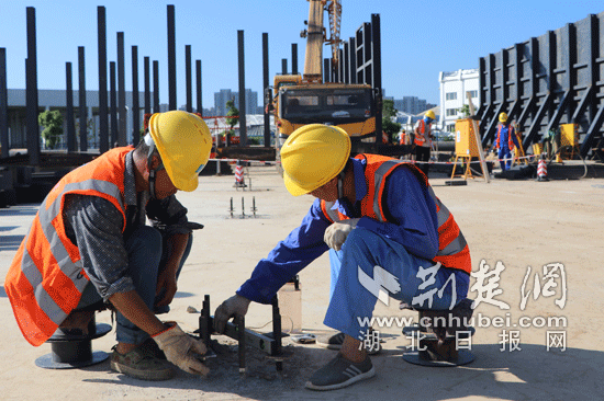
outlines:
[[[153,340],[166,354],[166,358],[190,374],[208,375],[210,369],[195,357],[195,354],[205,354],[205,345],[200,340],[184,333],[176,322],[166,324],[170,328],[153,336]]]

